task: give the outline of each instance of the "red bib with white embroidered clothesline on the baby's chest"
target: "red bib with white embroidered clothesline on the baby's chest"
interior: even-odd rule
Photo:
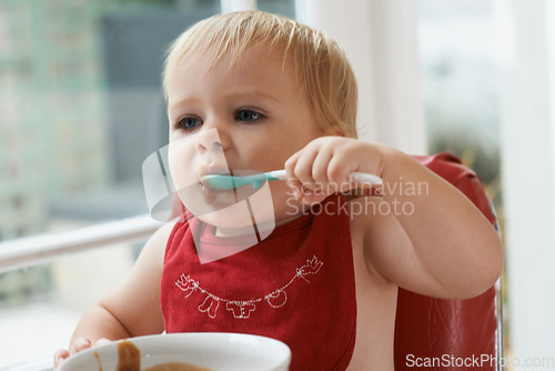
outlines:
[[[161,305],[167,332],[240,332],[292,350],[292,371],[345,370],[356,333],[356,298],[345,200],[332,195],[254,247],[201,264],[219,238],[193,218],[178,222],[165,250]]]

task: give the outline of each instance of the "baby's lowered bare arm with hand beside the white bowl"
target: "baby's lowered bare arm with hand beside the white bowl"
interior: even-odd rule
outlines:
[[[129,277],[112,292],[94,304],[79,321],[70,342],[75,353],[91,344],[164,330],[160,308],[160,280],[165,244],[173,224],[160,228],[145,243]],[[102,267],[99,267],[102,274]],[[54,364],[68,351],[54,354]]]

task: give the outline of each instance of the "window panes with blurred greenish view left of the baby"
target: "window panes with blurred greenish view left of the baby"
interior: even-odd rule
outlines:
[[[141,164],[168,141],[164,49],[219,10],[210,0],[2,1],[0,241],[148,213]],[[141,245],[0,272],[0,368],[65,347]]]

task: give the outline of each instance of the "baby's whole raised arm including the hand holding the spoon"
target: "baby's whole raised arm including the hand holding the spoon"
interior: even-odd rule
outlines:
[[[391,147],[323,137],[293,154],[285,169],[296,194],[347,183],[351,172],[383,179],[383,197],[360,199],[353,225],[364,234],[366,265],[407,290],[441,298],[471,298],[488,289],[503,267],[501,241],[482,212],[448,182]],[[293,187],[295,181],[290,182]],[[423,184],[408,191],[411,184]],[[387,203],[382,204],[381,203]],[[395,204],[397,212],[394,212]],[[405,207],[404,211],[401,208]],[[391,212],[383,212],[390,210]]]

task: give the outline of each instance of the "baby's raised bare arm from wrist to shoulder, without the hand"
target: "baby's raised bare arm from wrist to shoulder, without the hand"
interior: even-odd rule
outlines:
[[[372,264],[414,292],[452,299],[475,297],[501,275],[503,249],[490,221],[457,189],[411,157],[384,151],[387,189],[375,207],[393,202],[413,212],[377,213],[365,223]],[[397,187],[394,187],[396,183]],[[410,192],[410,184],[422,184]],[[398,211],[398,210],[397,210]]]

